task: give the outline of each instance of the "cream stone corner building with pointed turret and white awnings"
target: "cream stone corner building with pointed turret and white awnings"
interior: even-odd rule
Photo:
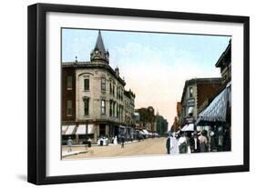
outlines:
[[[135,94],[125,85],[118,68],[109,65],[99,31],[89,62],[62,63],[62,138],[82,143],[87,137],[97,142],[100,136],[129,136]]]

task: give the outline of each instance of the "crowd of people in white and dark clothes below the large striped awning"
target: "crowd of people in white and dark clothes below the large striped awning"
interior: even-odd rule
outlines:
[[[186,132],[170,133],[166,148],[168,154],[230,151],[230,135],[224,134],[222,139],[219,138],[216,141],[214,132],[210,132],[210,136],[206,131],[192,134]]]

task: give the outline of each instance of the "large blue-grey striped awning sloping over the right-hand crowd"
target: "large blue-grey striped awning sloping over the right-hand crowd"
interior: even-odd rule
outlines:
[[[230,87],[226,87],[200,114],[197,125],[226,122],[227,105],[230,99]]]

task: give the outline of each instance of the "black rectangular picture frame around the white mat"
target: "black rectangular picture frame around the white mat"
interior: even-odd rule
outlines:
[[[165,18],[189,21],[211,21],[243,24],[243,164],[172,170],[152,170],[124,173],[95,173],[67,176],[46,176],[46,13],[76,13],[90,15],[121,15]],[[206,173],[248,172],[250,170],[250,18],[237,15],[208,15],[123,9],[81,5],[36,4],[28,6],[28,137],[27,181],[35,184],[81,183]]]

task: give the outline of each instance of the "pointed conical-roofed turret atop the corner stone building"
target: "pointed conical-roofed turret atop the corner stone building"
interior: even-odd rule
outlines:
[[[105,49],[103,44],[102,36],[100,31],[98,31],[97,42],[94,50],[91,53],[91,63],[107,63],[108,64],[109,53]]]

